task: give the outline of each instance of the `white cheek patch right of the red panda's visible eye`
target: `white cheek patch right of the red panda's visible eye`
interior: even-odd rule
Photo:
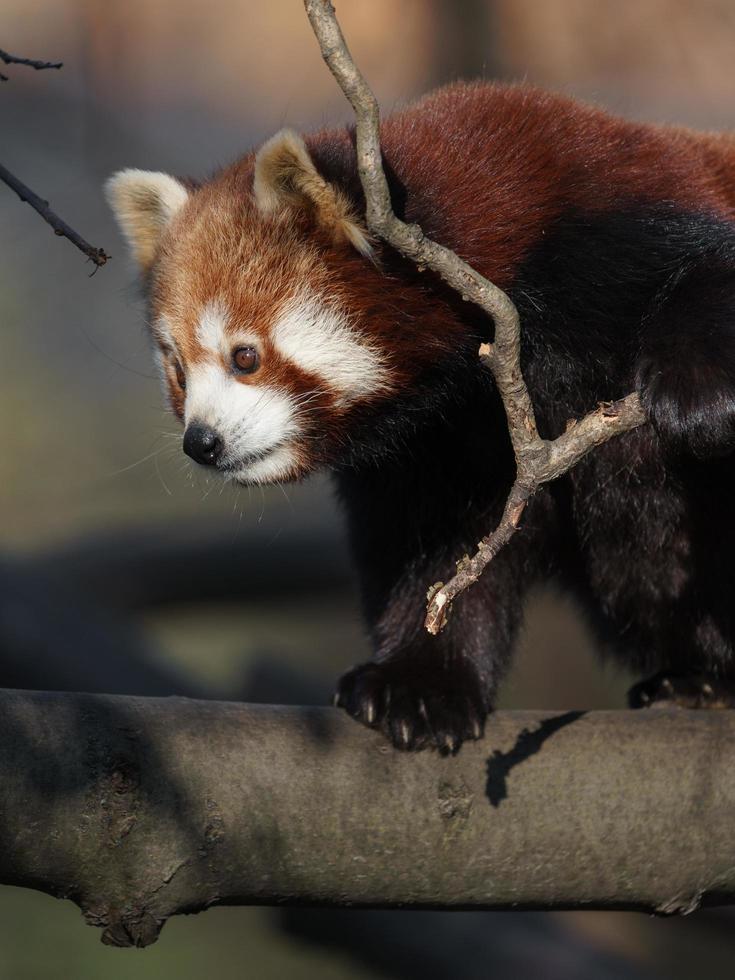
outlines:
[[[364,341],[346,313],[300,293],[273,324],[271,339],[297,367],[323,378],[349,404],[388,387],[384,357]]]

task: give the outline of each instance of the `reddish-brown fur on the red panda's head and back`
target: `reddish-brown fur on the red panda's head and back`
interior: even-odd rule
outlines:
[[[406,219],[420,222],[427,235],[501,287],[512,283],[529,250],[570,209],[671,201],[735,216],[732,139],[629,122],[526,86],[441,89],[386,119],[381,141],[393,183],[410,188]],[[308,137],[307,146],[359,211],[352,134],[324,131]],[[197,317],[207,302],[223,297],[233,337],[238,329],[255,331],[267,354],[262,371],[242,377],[242,384],[272,383],[297,396],[317,387],[322,431],[319,452],[305,453],[311,468],[339,452],[353,415],[366,406],[338,410],[324,379],[299,371],[269,347],[268,328],[298,287],[344,302],[361,332],[389,354],[394,390],[410,387],[458,351],[469,354],[468,338],[474,343],[488,325],[410,263],[394,256],[400,274],[386,275],[379,243],[373,266],[320,232],[308,212],[261,215],[252,198],[254,159],[248,154],[204,183],[171,224],[151,278],[152,314],[167,314],[184,360],[195,365],[203,356]],[[167,377],[180,414],[181,393],[171,371]]]

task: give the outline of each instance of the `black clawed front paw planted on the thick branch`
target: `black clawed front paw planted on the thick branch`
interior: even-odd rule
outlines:
[[[335,704],[397,749],[433,747],[454,755],[463,742],[482,738],[488,708],[468,663],[430,668],[425,661],[386,660],[353,667],[337,685]]]

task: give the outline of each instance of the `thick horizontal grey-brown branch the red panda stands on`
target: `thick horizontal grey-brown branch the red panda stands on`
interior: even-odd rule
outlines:
[[[735,713],[499,712],[454,758],[331,708],[0,692],[0,882],[103,941],[216,904],[735,901]]]

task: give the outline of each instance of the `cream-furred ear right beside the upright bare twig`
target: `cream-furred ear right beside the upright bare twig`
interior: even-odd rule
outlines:
[[[255,156],[255,203],[261,214],[287,208],[309,211],[335,241],[348,241],[358,252],[372,256],[367,231],[348,198],[328,183],[314,166],[302,138],[282,129]]]

